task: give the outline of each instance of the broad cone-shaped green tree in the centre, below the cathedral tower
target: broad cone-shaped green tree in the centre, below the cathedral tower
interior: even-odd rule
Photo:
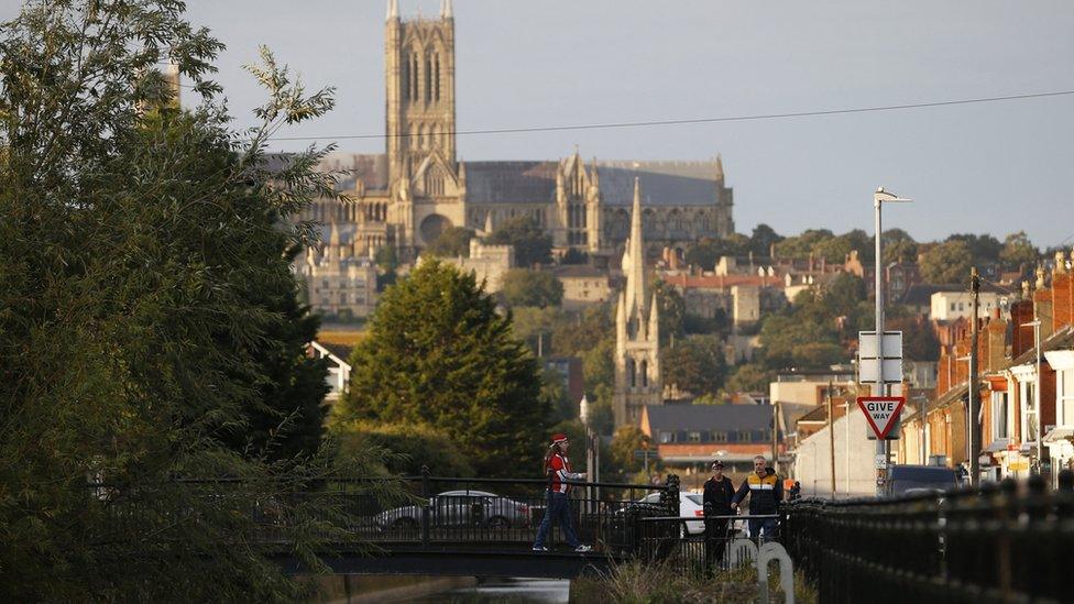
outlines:
[[[381,298],[351,366],[343,418],[435,426],[480,475],[540,455],[550,409],[537,362],[473,274],[420,263]]]

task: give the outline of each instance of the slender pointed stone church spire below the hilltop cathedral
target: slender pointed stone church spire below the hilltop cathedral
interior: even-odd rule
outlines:
[[[660,309],[645,283],[645,241],[642,237],[642,190],[634,179],[631,235],[623,254],[626,286],[615,314],[615,426],[637,425],[642,407],[661,405]],[[650,301],[651,300],[651,301]]]

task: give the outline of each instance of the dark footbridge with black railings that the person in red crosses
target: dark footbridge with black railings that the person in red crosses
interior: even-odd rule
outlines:
[[[574,483],[571,514],[591,551],[573,551],[554,526],[549,551],[533,551],[546,509],[540,479],[321,479],[303,485],[186,480],[198,505],[241,516],[242,539],[288,573],[316,563],[299,556],[298,535],[318,527],[317,561],[339,574],[420,574],[572,579],[604,573],[634,558],[677,552],[701,570],[725,545],[726,532],[704,536],[704,518],[680,516],[679,481],[665,484]],[[398,496],[399,487],[403,495]],[[140,509],[129,491],[95,486],[94,499],[117,521],[160,516]],[[395,496],[392,496],[395,494]],[[219,509],[218,509],[219,510]],[[197,513],[194,513],[197,514]],[[189,512],[165,510],[174,518]]]

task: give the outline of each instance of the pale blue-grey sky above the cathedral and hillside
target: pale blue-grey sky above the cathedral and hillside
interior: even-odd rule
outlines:
[[[398,0],[404,17],[439,0]],[[0,0],[0,18],[18,11]],[[228,45],[237,125],[264,92],[259,45],[333,86],[337,109],[281,135],[384,132],[386,0],[188,0]],[[1074,90],[1074,2],[456,0],[458,128],[719,118]],[[186,99],[194,102],[195,99]],[[309,142],[274,143],[294,150]],[[913,198],[885,229],[1074,243],[1074,95],[903,111],[615,130],[460,135],[464,160],[722,155],[739,232],[873,231],[877,186]],[[340,140],[383,152],[381,139]]]

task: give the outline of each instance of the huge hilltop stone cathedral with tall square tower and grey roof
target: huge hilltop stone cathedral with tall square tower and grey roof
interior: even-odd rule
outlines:
[[[407,261],[448,228],[479,231],[517,217],[545,229],[558,253],[613,254],[640,218],[656,249],[681,252],[690,241],[734,232],[719,156],[587,162],[576,150],[559,161],[459,161],[451,0],[438,17],[416,19],[399,17],[398,0],[388,0],[384,69],[385,153],[332,154],[324,167],[347,173],[340,187],[355,202],[322,200],[303,216],[337,224],[343,256],[391,246]],[[645,210],[632,217],[636,180]]]

